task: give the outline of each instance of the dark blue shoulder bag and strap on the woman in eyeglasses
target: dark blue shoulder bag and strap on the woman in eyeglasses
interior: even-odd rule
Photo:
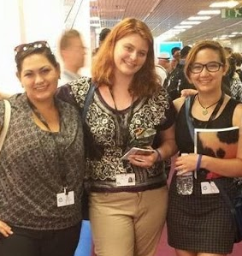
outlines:
[[[189,118],[189,107],[191,104],[191,98],[186,98],[186,122],[187,126],[189,128],[189,132],[192,136],[192,140],[194,141],[194,134],[193,134],[193,124],[191,121],[191,118]],[[230,199],[227,195],[225,189],[221,185],[221,181],[219,179],[213,179],[213,182],[215,182],[215,185],[217,188],[219,188],[219,191],[221,193],[222,199],[225,201],[227,206],[229,207],[229,210],[231,212],[231,216],[233,218],[233,227],[235,230],[235,240],[234,242],[242,241],[242,180],[234,178],[235,186],[237,188],[237,195],[235,198]]]

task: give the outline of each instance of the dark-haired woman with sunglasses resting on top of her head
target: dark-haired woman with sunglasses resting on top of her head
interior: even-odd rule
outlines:
[[[25,92],[0,157],[0,255],[70,256],[79,241],[84,149],[80,115],[55,97],[59,64],[44,41],[15,48]],[[4,107],[0,102],[0,125]]]

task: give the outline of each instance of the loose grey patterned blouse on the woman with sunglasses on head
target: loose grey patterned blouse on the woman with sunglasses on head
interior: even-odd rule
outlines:
[[[26,229],[65,229],[81,220],[84,176],[83,131],[78,111],[56,100],[61,115],[58,133],[44,131],[32,120],[26,94],[9,98],[12,113],[0,154],[0,219]],[[3,127],[3,101],[0,127]],[[62,152],[68,190],[75,204],[57,207],[63,192],[57,145]]]

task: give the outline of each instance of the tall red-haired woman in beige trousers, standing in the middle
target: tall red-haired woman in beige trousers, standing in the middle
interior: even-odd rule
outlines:
[[[91,79],[70,82],[59,96],[83,110],[93,86],[85,128],[95,253],[152,256],[167,211],[162,160],[176,146],[174,106],[159,83],[151,30],[143,21],[127,18],[113,27],[93,60]],[[122,159],[133,146],[156,150]]]

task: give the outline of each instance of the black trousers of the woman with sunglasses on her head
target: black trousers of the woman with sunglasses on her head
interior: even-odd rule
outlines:
[[[14,234],[0,236],[1,256],[73,256],[81,223],[68,229],[32,230],[12,227]]]

